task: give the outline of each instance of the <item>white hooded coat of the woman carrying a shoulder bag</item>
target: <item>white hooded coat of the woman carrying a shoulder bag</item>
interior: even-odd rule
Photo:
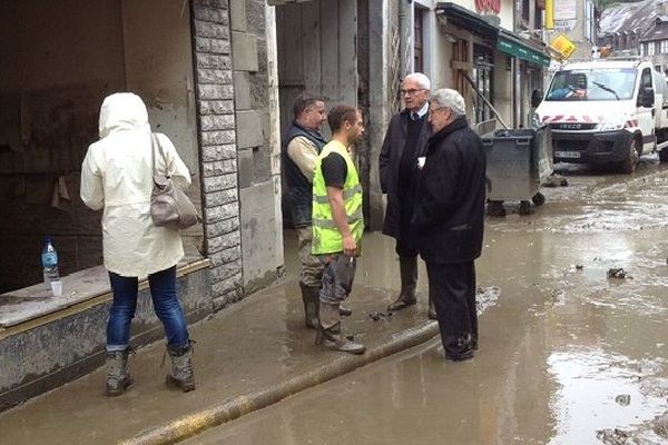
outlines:
[[[107,270],[145,278],[175,266],[184,256],[178,230],[156,227],[150,219],[153,189],[148,112],[131,92],[108,96],[100,109],[100,140],[88,148],[81,166],[81,199],[102,214]],[[185,188],[190,174],[174,145],[158,135],[165,158],[156,150],[156,168]]]

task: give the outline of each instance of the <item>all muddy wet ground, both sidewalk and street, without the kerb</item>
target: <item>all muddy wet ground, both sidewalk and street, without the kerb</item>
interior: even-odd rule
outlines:
[[[562,172],[569,186],[543,189],[533,215],[509,204],[487,220],[474,359],[445,362],[432,339],[185,443],[668,443],[668,167]],[[370,344],[428,325],[422,265],[421,305],[370,317],[399,287],[393,247],[365,236],[350,326]],[[127,395],[104,397],[95,373],[0,415],[2,442],[114,443],[326,365],[337,354],[312,345],[296,290],[287,279],[193,328],[196,392],[164,389],[163,350],[144,348]]]

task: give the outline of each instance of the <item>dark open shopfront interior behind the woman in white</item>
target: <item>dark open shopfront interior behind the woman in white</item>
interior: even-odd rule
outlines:
[[[70,276],[86,269],[95,275],[102,264],[101,214],[84,205],[79,185],[84,157],[99,139],[98,115],[107,95],[137,92],[153,128],[170,137],[199,178],[188,95],[195,79],[189,17],[175,2],[165,2],[159,21],[151,21],[154,16],[155,8],[143,2],[3,3],[0,244],[8,254],[0,256],[0,294],[43,281],[39,258],[47,235],[68,280],[66,293]],[[199,206],[199,180],[188,195]],[[185,261],[202,258],[202,237],[200,226],[184,234]],[[92,281],[86,283],[82,287],[91,288]],[[79,289],[68,301],[87,296]],[[36,313],[46,307],[36,305]]]

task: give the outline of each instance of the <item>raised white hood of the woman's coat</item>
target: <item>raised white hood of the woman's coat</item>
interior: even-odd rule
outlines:
[[[132,92],[107,96],[100,108],[100,139],[116,131],[128,130],[150,132],[146,105]]]

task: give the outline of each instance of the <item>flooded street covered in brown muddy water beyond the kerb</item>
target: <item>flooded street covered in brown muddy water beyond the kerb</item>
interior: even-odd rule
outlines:
[[[433,340],[188,443],[668,443],[668,169],[567,177],[488,220],[473,360]],[[395,284],[393,244],[367,241],[360,281]]]

